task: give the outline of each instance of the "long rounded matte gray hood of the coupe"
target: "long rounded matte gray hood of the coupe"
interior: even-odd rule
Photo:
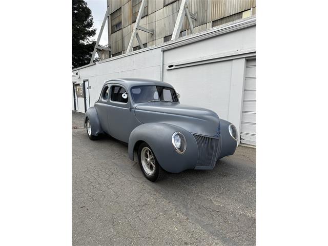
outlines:
[[[137,105],[135,115],[142,123],[171,124],[191,133],[212,137],[218,137],[220,134],[219,116],[204,108],[158,101]]]

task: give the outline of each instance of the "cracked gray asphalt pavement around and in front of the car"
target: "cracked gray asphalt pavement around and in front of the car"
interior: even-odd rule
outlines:
[[[128,147],[72,112],[72,245],[255,245],[256,149],[150,182]]]

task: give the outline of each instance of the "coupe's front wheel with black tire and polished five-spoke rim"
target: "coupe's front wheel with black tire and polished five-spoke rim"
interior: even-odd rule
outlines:
[[[138,160],[142,173],[152,181],[163,178],[165,171],[159,166],[154,152],[146,142],[143,142],[138,149]]]

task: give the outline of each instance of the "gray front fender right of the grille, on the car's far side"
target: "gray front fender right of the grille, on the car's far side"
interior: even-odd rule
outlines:
[[[229,121],[220,119],[222,144],[221,144],[221,153],[218,159],[227,155],[233,155],[237,148],[237,141],[233,139],[229,133],[230,124],[231,123]]]

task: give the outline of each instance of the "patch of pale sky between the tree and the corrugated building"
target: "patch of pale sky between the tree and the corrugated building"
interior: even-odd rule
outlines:
[[[93,36],[94,40],[97,40],[98,34],[100,32],[101,24],[103,23],[104,16],[107,8],[107,0],[85,0],[89,8],[92,11],[93,15],[93,27],[97,29],[96,35]],[[101,35],[101,39],[99,45],[107,45],[108,44],[108,29],[107,22],[103,31],[103,35]]]

